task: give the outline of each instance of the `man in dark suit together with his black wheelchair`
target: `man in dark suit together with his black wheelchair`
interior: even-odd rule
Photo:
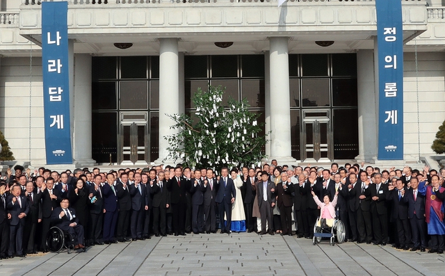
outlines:
[[[71,249],[85,252],[83,226],[79,225],[76,211],[70,208],[69,200],[64,198],[60,207],[52,211],[51,223],[53,227],[47,233],[47,245],[52,252],[59,252],[63,247],[68,249],[68,253]]]

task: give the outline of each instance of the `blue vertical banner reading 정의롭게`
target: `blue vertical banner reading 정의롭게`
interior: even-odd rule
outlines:
[[[378,43],[378,160],[403,160],[401,0],[375,0]]]

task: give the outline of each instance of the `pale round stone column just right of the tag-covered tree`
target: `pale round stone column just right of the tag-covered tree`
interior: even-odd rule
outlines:
[[[291,103],[289,98],[288,38],[270,38],[270,157],[293,165],[291,156]],[[267,101],[267,99],[266,99]]]

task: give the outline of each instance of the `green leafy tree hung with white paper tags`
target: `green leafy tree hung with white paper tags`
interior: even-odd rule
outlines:
[[[259,135],[264,125],[257,123],[259,114],[248,111],[246,99],[229,99],[223,106],[224,90],[221,86],[209,86],[207,92],[198,88],[193,97],[195,120],[185,114],[168,115],[176,123],[172,129],[179,133],[165,137],[170,144],[167,159],[219,171],[230,165],[256,164],[265,157],[261,149],[268,134]]]

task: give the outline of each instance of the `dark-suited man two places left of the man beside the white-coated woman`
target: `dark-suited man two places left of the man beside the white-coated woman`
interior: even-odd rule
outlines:
[[[201,170],[195,170],[195,179],[191,180],[190,193],[192,195],[192,230],[193,234],[204,233],[204,193],[207,189],[201,181]]]

